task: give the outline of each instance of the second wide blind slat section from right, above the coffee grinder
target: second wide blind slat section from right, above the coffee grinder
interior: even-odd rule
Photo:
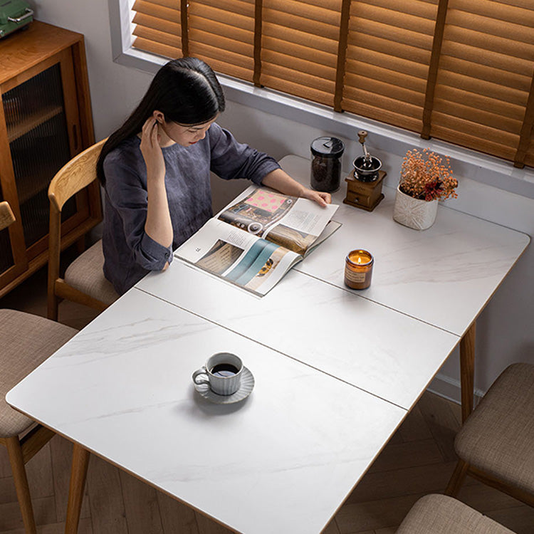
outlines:
[[[352,1],[342,108],[420,132],[437,0]]]

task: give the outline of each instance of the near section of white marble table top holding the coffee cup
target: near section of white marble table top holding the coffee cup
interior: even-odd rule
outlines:
[[[241,404],[194,391],[221,350],[256,379]],[[319,533],[407,413],[135,288],[6,398],[246,534]]]

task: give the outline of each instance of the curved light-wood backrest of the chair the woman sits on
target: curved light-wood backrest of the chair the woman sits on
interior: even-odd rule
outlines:
[[[58,170],[48,186],[51,208],[61,211],[70,197],[96,179],[96,162],[105,142],[95,143]]]

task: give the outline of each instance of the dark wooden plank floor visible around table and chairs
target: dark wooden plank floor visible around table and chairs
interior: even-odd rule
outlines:
[[[46,273],[40,271],[0,299],[0,308],[46,315],[45,288]],[[94,316],[90,310],[72,303],[60,305],[61,322],[75,328],[83,328]],[[453,441],[459,426],[459,406],[426,392],[323,532],[394,533],[417,498],[444,490],[456,461]],[[71,450],[68,441],[56,436],[26,466],[39,534],[63,533]],[[534,533],[534,508],[503,493],[468,478],[459,498],[518,534]],[[23,532],[6,450],[0,446],[0,534]],[[230,531],[92,456],[79,532]]]

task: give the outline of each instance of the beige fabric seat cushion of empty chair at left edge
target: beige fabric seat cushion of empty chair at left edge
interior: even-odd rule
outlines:
[[[0,437],[18,436],[33,421],[6,402],[6,393],[53,355],[77,330],[16,310],[0,310]]]

